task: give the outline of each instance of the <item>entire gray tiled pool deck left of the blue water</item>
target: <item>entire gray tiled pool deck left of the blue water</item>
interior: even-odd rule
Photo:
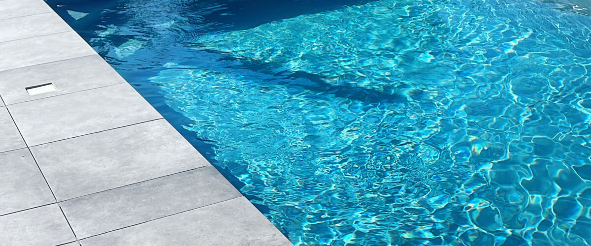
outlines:
[[[0,0],[0,97],[1,245],[291,245],[43,0]]]

